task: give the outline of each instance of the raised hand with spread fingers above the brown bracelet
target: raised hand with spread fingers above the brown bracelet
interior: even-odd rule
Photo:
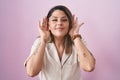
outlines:
[[[78,24],[78,18],[75,17],[75,15],[72,16],[72,28],[69,32],[69,35],[72,37],[75,34],[79,34],[80,27],[84,24],[83,22],[81,24]]]

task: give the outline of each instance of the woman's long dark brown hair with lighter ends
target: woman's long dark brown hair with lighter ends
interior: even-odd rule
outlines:
[[[69,35],[69,31],[70,29],[72,28],[72,13],[71,11],[66,7],[66,6],[63,6],[63,5],[57,5],[57,6],[54,6],[53,8],[51,8],[47,14],[47,20],[49,21],[49,18],[51,17],[52,13],[55,11],[55,10],[61,10],[63,11],[66,15],[67,15],[67,18],[68,18],[68,21],[69,21],[69,30],[68,30],[68,33],[66,34],[65,36],[65,52],[66,54],[68,53],[72,53],[72,44],[73,44],[73,41]],[[54,41],[54,37],[53,37],[53,34],[50,32],[50,36],[51,36],[51,41]]]

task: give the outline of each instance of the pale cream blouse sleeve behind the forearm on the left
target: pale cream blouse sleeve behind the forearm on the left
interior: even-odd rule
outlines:
[[[35,53],[35,51],[37,50],[39,44],[40,44],[40,38],[37,38],[37,39],[34,41],[32,47],[31,47],[29,56],[27,57],[27,59],[26,59],[25,62],[24,62],[24,66],[26,66],[26,63],[27,63],[28,59],[31,57],[31,55],[32,55],[33,53]]]

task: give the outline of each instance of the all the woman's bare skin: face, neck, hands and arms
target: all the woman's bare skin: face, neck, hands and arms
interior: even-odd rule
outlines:
[[[48,24],[48,26],[47,26]],[[84,23],[78,24],[78,19],[73,15],[73,27],[69,34],[72,37],[75,34],[79,34],[79,29]],[[40,32],[40,44],[38,49],[33,53],[33,55],[27,60],[26,71],[31,77],[37,75],[42,67],[43,56],[45,52],[45,46],[47,41],[49,41],[50,32],[54,36],[54,43],[58,51],[59,59],[61,60],[64,50],[65,35],[68,33],[69,21],[66,14],[61,10],[55,10],[49,22],[47,22],[46,17],[43,18],[42,22],[39,22],[39,32]],[[80,67],[85,71],[93,71],[95,68],[95,58],[87,47],[83,44],[82,40],[77,37],[74,39],[75,47],[78,51],[78,58],[80,60]]]

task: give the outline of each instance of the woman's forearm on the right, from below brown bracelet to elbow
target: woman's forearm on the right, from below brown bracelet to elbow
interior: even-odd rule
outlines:
[[[85,71],[92,71],[95,68],[94,56],[87,49],[79,37],[74,40],[74,44],[78,51],[78,58],[81,68],[83,68]]]

